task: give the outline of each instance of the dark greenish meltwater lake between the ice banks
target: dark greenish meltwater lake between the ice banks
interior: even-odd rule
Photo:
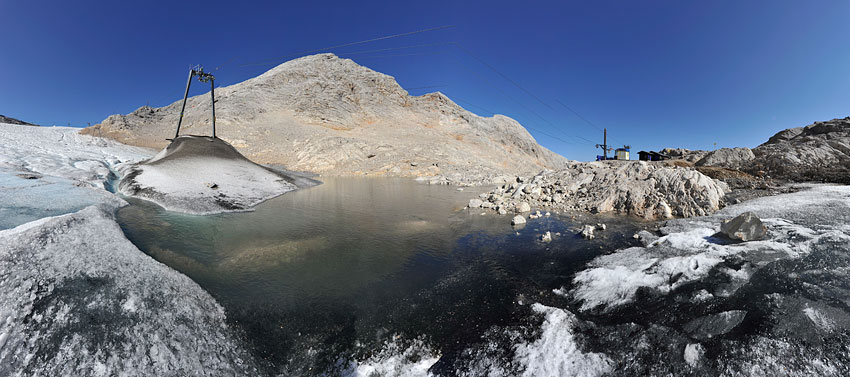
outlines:
[[[439,356],[432,372],[459,373],[488,331],[536,327],[528,304],[565,301],[552,289],[647,225],[553,214],[514,229],[509,216],[463,209],[484,189],[324,181],[253,212],[189,216],[131,200],[118,220],[216,297],[270,374],[286,375],[380,371],[400,355],[401,369]],[[575,228],[587,221],[609,228],[582,240]],[[545,231],[561,235],[544,243]]]

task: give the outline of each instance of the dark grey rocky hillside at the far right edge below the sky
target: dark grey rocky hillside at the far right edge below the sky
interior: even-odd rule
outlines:
[[[792,181],[850,183],[850,117],[780,131],[746,168]]]

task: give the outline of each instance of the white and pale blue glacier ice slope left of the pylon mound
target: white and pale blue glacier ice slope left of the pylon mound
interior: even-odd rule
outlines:
[[[86,206],[124,201],[104,190],[147,149],[79,135],[71,127],[0,123],[0,229]]]

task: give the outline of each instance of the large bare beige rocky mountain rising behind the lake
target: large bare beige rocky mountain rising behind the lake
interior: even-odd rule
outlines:
[[[333,54],[283,63],[215,95],[218,137],[292,170],[480,183],[566,163],[511,118],[475,115],[442,93],[410,96],[391,76]],[[162,148],[180,106],[141,107],[83,132]],[[189,98],[181,132],[209,134],[209,114],[209,94]]]

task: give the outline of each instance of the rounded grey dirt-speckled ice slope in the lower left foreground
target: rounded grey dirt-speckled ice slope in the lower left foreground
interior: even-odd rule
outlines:
[[[244,375],[224,310],[111,208],[0,231],[0,375]]]

